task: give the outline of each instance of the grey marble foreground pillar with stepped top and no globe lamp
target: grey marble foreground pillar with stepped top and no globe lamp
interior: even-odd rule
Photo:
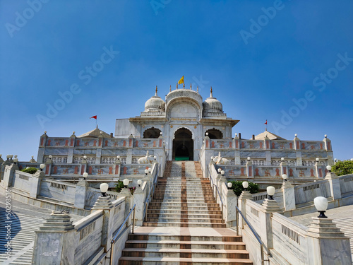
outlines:
[[[74,264],[75,232],[68,213],[53,213],[35,231],[32,264]]]

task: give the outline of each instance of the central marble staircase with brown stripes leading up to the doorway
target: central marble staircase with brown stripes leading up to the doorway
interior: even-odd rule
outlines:
[[[198,162],[169,161],[147,221],[128,235],[119,264],[253,264],[226,228]]]

